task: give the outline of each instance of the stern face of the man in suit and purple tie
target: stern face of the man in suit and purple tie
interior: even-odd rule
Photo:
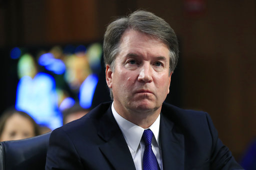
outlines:
[[[106,66],[119,114],[160,110],[170,85],[168,48],[157,38],[128,29],[120,39],[114,71]]]

